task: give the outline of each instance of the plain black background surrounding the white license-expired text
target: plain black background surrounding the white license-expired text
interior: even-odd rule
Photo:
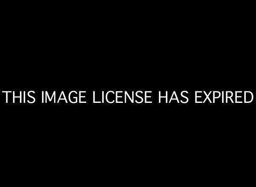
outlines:
[[[247,7],[42,7],[3,13],[1,91],[152,90],[154,104],[2,102],[5,176],[131,184],[250,178],[255,101],[196,105],[193,96],[255,94]],[[187,105],[157,104],[157,91],[183,90]]]

